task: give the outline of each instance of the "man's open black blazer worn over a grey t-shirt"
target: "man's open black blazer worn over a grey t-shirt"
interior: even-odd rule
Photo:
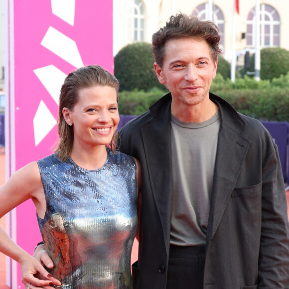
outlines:
[[[258,120],[209,96],[219,106],[221,126],[204,289],[288,289],[289,223],[277,146]],[[172,212],[170,104],[169,93],[120,132],[121,151],[140,160],[143,174],[133,289],[166,287]]]

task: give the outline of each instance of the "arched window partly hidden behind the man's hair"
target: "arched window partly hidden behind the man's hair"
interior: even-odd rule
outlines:
[[[192,15],[195,15],[199,18],[201,18],[202,20],[208,20],[209,16],[208,16],[208,2],[203,3],[198,5],[192,12]],[[224,14],[221,11],[221,9],[213,4],[213,20],[214,22],[218,25],[219,29],[220,29],[220,35],[221,35],[221,39],[220,39],[220,48],[223,49],[224,48]]]

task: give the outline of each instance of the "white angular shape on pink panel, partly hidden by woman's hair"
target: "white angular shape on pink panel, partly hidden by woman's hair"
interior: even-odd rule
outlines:
[[[52,64],[34,69],[33,71],[54,101],[58,104],[60,89],[66,74]]]

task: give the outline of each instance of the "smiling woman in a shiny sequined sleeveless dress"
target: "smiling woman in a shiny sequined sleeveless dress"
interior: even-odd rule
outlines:
[[[32,199],[54,263],[46,271],[1,229],[0,251],[19,262],[29,289],[60,286],[57,280],[60,288],[131,288],[141,172],[136,159],[115,151],[118,90],[118,80],[100,66],[70,73],[60,93],[55,153],[0,187],[0,217]]]

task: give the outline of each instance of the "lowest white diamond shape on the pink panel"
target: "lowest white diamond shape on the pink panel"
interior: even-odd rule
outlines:
[[[33,119],[35,146],[46,137],[55,125],[56,120],[43,100],[41,100]]]

